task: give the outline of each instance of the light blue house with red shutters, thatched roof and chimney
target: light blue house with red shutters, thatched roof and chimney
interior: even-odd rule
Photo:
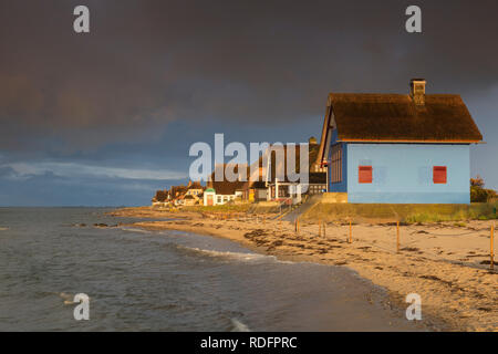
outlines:
[[[359,204],[469,204],[470,145],[483,140],[459,95],[331,93],[315,164],[329,191]]]

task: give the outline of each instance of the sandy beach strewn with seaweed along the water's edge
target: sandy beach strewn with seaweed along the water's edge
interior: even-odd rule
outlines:
[[[395,223],[352,225],[350,243],[347,223],[302,222],[297,232],[293,222],[247,214],[169,214],[142,207],[111,215],[172,218],[133,227],[221,237],[282,260],[347,267],[387,289],[395,306],[406,309],[406,295],[419,294],[423,319],[444,323],[442,330],[498,331],[497,267],[489,270],[492,221],[402,225],[397,252]]]

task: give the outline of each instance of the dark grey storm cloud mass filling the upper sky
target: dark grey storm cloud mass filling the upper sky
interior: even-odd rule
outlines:
[[[75,34],[86,4],[91,33]],[[77,152],[141,143],[169,122],[292,124],[330,91],[486,92],[497,82],[498,2],[6,1],[0,148]],[[465,97],[464,97],[465,98]],[[185,153],[185,152],[184,152]]]

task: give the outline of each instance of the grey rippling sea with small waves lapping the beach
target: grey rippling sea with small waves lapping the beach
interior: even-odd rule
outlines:
[[[0,208],[0,331],[427,331],[345,267],[108,211]]]

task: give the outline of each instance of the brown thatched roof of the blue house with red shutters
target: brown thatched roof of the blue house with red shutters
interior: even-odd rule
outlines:
[[[483,140],[459,95],[425,95],[425,104],[415,105],[409,95],[332,93],[329,104],[343,142]]]

